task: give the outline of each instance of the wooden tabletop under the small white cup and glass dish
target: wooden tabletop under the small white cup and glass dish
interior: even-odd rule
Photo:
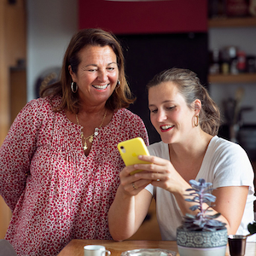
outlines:
[[[63,248],[58,256],[84,256],[84,246],[88,244],[100,244],[111,252],[111,256],[119,256],[122,252],[141,248],[161,248],[177,252],[176,241],[112,241],[112,240],[72,240]],[[177,256],[179,253],[177,253]],[[227,246],[226,254],[230,255]],[[246,256],[256,255],[256,243],[247,242]]]

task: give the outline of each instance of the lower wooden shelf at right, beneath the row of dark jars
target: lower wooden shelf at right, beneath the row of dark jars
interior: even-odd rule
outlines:
[[[209,83],[255,83],[256,84],[256,73],[240,73],[237,75],[233,74],[215,74],[208,76]]]

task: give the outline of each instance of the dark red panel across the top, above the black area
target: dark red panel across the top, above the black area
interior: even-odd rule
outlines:
[[[79,0],[79,29],[115,34],[207,32],[207,0]]]

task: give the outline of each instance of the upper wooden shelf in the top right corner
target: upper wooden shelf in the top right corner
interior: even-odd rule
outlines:
[[[208,27],[256,26],[256,17],[214,18],[208,20]]]

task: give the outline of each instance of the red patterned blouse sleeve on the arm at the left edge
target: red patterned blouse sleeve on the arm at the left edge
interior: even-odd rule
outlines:
[[[35,100],[27,103],[15,118],[0,148],[0,195],[11,211],[14,211],[26,186],[41,124],[38,113]]]

